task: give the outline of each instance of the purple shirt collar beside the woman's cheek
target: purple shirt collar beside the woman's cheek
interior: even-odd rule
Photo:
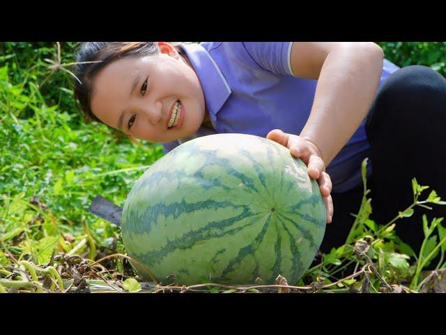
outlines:
[[[198,43],[181,45],[181,48],[187,54],[190,64],[197,73],[203,88],[206,107],[208,107],[211,119],[215,121],[215,114],[222,108],[231,94],[229,84],[226,82],[220,68],[210,57],[208,50]]]

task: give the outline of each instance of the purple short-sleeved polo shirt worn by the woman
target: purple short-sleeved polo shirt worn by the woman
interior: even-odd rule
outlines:
[[[312,110],[317,80],[295,77],[291,42],[202,42],[183,45],[197,73],[216,131],[199,130],[190,137],[163,143],[164,153],[192,138],[214,133],[266,137],[272,129],[300,134]],[[385,59],[380,85],[398,67]],[[362,184],[361,162],[370,145],[364,121],[328,165],[332,192]],[[368,174],[371,165],[368,164]]]

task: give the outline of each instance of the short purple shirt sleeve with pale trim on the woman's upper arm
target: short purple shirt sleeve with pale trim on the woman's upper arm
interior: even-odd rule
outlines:
[[[293,42],[243,42],[245,50],[256,64],[277,75],[293,75],[291,45]]]

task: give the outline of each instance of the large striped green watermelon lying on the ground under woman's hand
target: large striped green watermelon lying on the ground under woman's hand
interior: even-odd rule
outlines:
[[[324,232],[325,205],[305,163],[243,134],[176,147],[137,180],[122,217],[128,255],[180,285],[273,283],[279,274],[295,283]]]

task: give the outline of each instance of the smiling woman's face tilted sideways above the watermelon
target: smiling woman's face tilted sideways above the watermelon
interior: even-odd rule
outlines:
[[[93,78],[91,110],[108,126],[150,142],[192,135],[203,123],[203,89],[169,43],[160,53],[114,61]]]

